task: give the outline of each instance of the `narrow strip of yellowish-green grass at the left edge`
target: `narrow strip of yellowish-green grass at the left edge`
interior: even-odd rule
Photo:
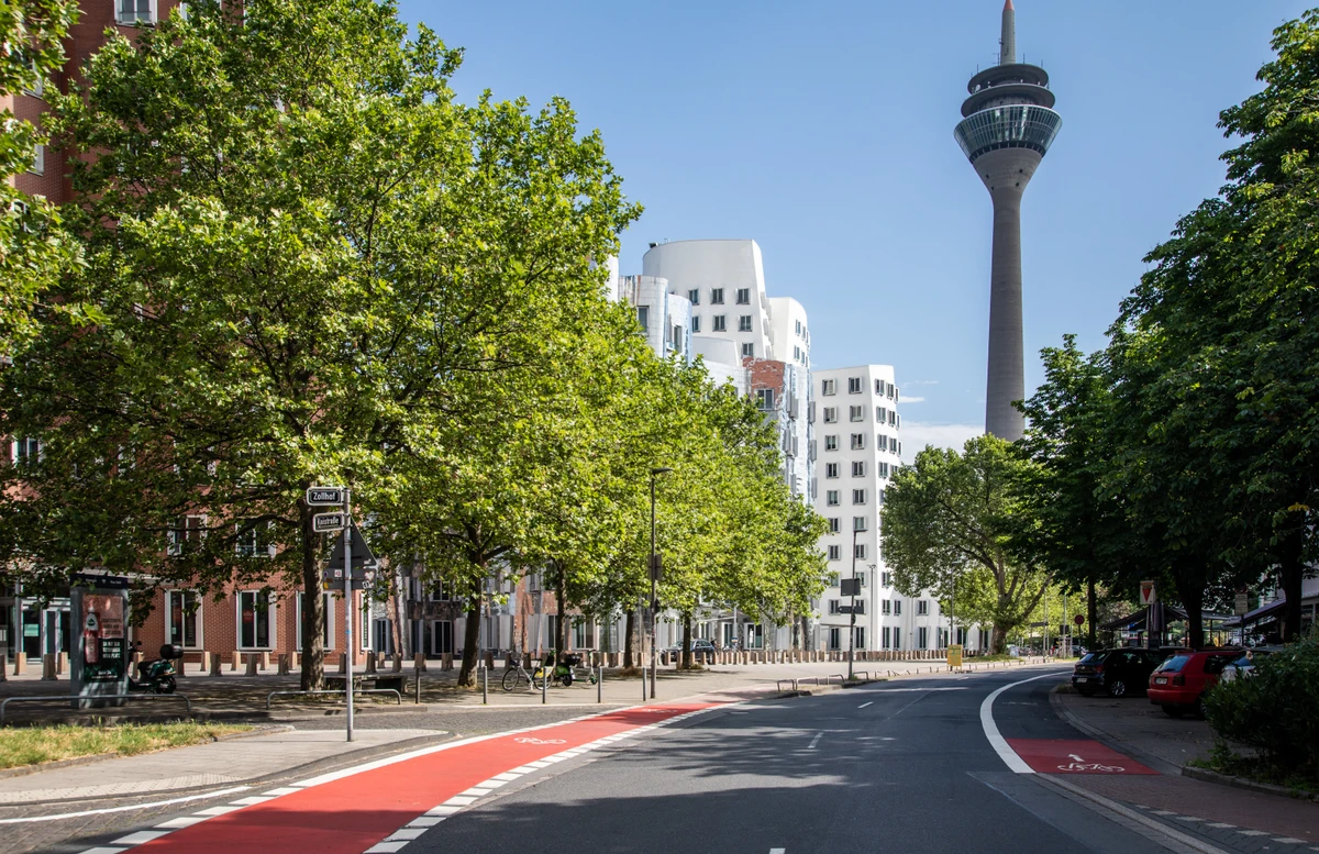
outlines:
[[[125,724],[123,726],[18,726],[0,729],[0,768],[58,759],[119,754],[132,756],[169,747],[187,747],[220,735],[245,733],[241,724]]]

